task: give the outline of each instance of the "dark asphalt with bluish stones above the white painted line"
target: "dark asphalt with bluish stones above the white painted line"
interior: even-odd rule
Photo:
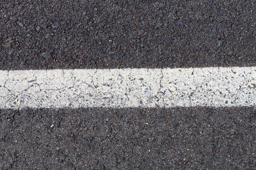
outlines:
[[[0,69],[256,65],[256,1],[9,1]]]

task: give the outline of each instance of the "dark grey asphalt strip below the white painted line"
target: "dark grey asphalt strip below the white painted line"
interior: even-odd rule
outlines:
[[[255,168],[255,131],[255,108],[1,110],[0,168]]]

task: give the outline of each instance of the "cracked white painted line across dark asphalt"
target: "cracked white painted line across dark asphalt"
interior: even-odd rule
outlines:
[[[0,71],[0,108],[256,106],[256,67]]]

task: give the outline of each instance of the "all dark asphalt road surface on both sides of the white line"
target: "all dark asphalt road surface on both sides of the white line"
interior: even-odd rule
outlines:
[[[7,1],[0,69],[256,66],[256,1]],[[255,107],[0,110],[0,169],[254,169]]]

